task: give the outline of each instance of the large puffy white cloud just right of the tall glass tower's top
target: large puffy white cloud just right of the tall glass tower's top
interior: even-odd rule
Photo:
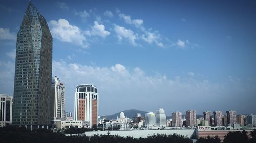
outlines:
[[[57,38],[63,42],[70,42],[87,48],[86,37],[83,35],[83,31],[75,25],[71,25],[69,21],[65,19],[59,19],[58,21],[52,20],[49,23],[51,34],[54,38]]]

